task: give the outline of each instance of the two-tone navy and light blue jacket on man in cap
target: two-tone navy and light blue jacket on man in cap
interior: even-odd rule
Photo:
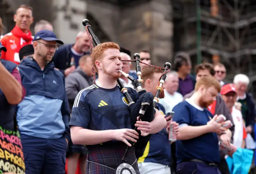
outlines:
[[[70,139],[69,106],[64,75],[54,69],[53,62],[41,70],[30,57],[19,64],[24,100],[18,104],[17,121],[20,134],[39,138]]]

